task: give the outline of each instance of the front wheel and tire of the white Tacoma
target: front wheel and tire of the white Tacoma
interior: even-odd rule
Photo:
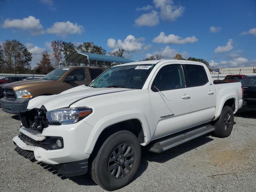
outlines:
[[[129,131],[119,131],[109,136],[98,153],[92,156],[89,173],[102,188],[116,190],[132,180],[138,171],[140,159],[138,138]]]

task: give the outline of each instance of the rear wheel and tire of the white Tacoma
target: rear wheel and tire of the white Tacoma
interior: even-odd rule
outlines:
[[[230,106],[224,106],[220,117],[215,122],[214,136],[224,138],[230,136],[234,125],[234,112]]]

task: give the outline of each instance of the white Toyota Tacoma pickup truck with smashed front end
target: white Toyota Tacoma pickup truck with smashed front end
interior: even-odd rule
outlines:
[[[115,190],[136,174],[141,146],[160,153],[210,132],[227,137],[242,102],[240,82],[214,85],[202,63],[132,62],[89,86],[30,100],[13,142],[31,161],[64,176],[89,172],[96,184]]]

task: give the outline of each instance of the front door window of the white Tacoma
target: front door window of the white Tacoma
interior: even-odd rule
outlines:
[[[153,82],[160,91],[184,88],[183,72],[180,65],[162,67]]]

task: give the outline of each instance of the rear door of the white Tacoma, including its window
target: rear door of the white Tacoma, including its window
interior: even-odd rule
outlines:
[[[191,96],[191,122],[197,126],[210,122],[214,117],[216,92],[209,81],[206,67],[196,64],[184,64],[186,86]]]

